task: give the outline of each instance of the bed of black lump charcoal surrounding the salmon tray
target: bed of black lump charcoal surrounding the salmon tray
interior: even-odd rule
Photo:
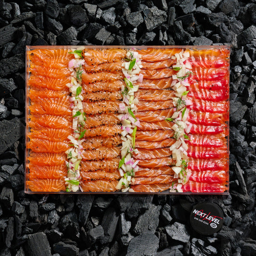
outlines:
[[[0,0],[0,255],[256,255],[255,2]],[[230,195],[24,194],[25,45],[91,44],[232,46]],[[210,236],[188,218],[204,201]]]

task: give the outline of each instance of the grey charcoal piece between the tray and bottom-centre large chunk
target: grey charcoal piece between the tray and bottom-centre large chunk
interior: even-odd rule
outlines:
[[[137,235],[155,233],[158,227],[160,208],[161,206],[151,204],[145,213],[139,216],[134,227],[134,233]]]

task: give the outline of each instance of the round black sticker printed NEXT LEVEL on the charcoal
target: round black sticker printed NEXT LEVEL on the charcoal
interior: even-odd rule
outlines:
[[[199,203],[191,211],[190,223],[196,232],[212,235],[222,228],[223,212],[215,203]]]

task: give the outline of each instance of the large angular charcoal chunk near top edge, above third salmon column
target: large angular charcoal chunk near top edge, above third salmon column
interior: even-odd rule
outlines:
[[[164,11],[159,10],[156,6],[150,9],[146,9],[144,12],[146,31],[151,32],[159,25],[163,24],[167,20],[167,14]]]

